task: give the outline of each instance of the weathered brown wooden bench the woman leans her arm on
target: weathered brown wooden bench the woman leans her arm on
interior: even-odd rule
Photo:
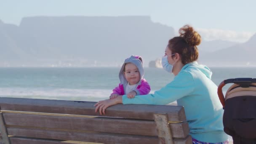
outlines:
[[[184,108],[0,98],[0,144],[192,144]]]

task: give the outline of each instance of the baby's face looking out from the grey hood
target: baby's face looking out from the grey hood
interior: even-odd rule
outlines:
[[[141,79],[139,69],[132,63],[125,64],[124,76],[130,85],[139,83],[139,80]]]

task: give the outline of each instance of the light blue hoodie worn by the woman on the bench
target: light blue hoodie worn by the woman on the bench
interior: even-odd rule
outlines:
[[[228,139],[223,131],[224,110],[219,101],[217,86],[211,80],[211,70],[196,61],[184,65],[171,83],[154,94],[123,96],[123,104],[168,104],[177,100],[184,106],[190,135],[198,141],[218,143]]]

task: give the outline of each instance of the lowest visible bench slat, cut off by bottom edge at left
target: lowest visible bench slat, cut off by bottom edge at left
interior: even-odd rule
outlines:
[[[57,140],[48,139],[33,139],[33,138],[23,138],[12,136],[10,137],[11,144],[65,144]]]

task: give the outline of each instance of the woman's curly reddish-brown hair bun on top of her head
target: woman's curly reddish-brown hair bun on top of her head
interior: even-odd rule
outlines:
[[[189,44],[189,46],[196,46],[201,43],[201,36],[189,25],[185,25],[179,29],[180,37]]]

